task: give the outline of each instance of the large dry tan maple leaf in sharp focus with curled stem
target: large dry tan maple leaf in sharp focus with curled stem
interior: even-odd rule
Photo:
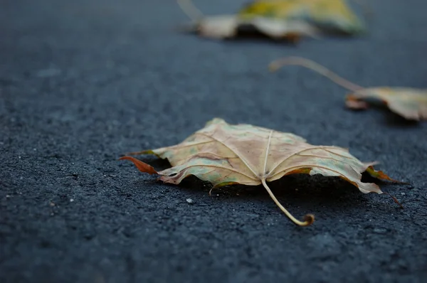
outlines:
[[[139,171],[159,174],[165,183],[180,183],[194,175],[210,181],[215,187],[232,184],[257,186],[262,184],[273,201],[297,225],[310,225],[314,215],[303,221],[295,219],[275,198],[267,182],[294,173],[338,176],[357,186],[362,193],[383,193],[375,183],[362,183],[362,172],[376,178],[395,181],[382,171],[375,171],[374,163],[363,163],[337,146],[314,146],[295,134],[255,127],[250,124],[227,124],[213,119],[206,127],[176,144],[160,149],[132,154],[155,154],[168,159],[172,168],[156,171],[152,166],[131,156]],[[396,181],[397,182],[397,181]],[[395,199],[396,201],[396,199]]]

